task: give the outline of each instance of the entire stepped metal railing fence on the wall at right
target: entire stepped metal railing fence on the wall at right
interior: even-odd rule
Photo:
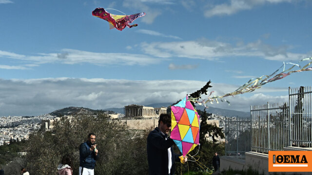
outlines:
[[[251,118],[228,118],[226,155],[268,153],[287,146],[312,147],[312,88],[289,88],[289,102],[254,105]]]

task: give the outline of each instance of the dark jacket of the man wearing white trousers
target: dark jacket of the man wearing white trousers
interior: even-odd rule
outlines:
[[[94,151],[90,151],[92,147],[91,142],[88,140],[84,143],[81,143],[79,146],[79,157],[80,163],[79,166],[94,169],[96,166],[96,161],[98,160],[98,155],[96,156]]]

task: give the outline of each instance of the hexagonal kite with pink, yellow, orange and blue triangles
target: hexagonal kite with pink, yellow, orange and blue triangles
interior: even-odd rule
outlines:
[[[199,115],[186,96],[171,106],[171,134],[183,157],[199,144]]]

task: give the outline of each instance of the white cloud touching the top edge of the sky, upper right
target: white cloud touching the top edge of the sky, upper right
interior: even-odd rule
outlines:
[[[250,10],[254,6],[263,5],[265,3],[281,3],[291,2],[292,0],[231,0],[230,3],[222,3],[215,5],[204,12],[205,17],[233,15],[242,10]]]

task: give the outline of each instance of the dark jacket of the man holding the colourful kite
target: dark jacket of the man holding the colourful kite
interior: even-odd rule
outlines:
[[[167,139],[158,127],[156,127],[147,137],[147,159],[149,175],[168,175],[168,148],[171,148],[172,167],[170,175],[176,171],[175,161],[180,161],[179,156],[174,153],[172,145],[174,140]]]

